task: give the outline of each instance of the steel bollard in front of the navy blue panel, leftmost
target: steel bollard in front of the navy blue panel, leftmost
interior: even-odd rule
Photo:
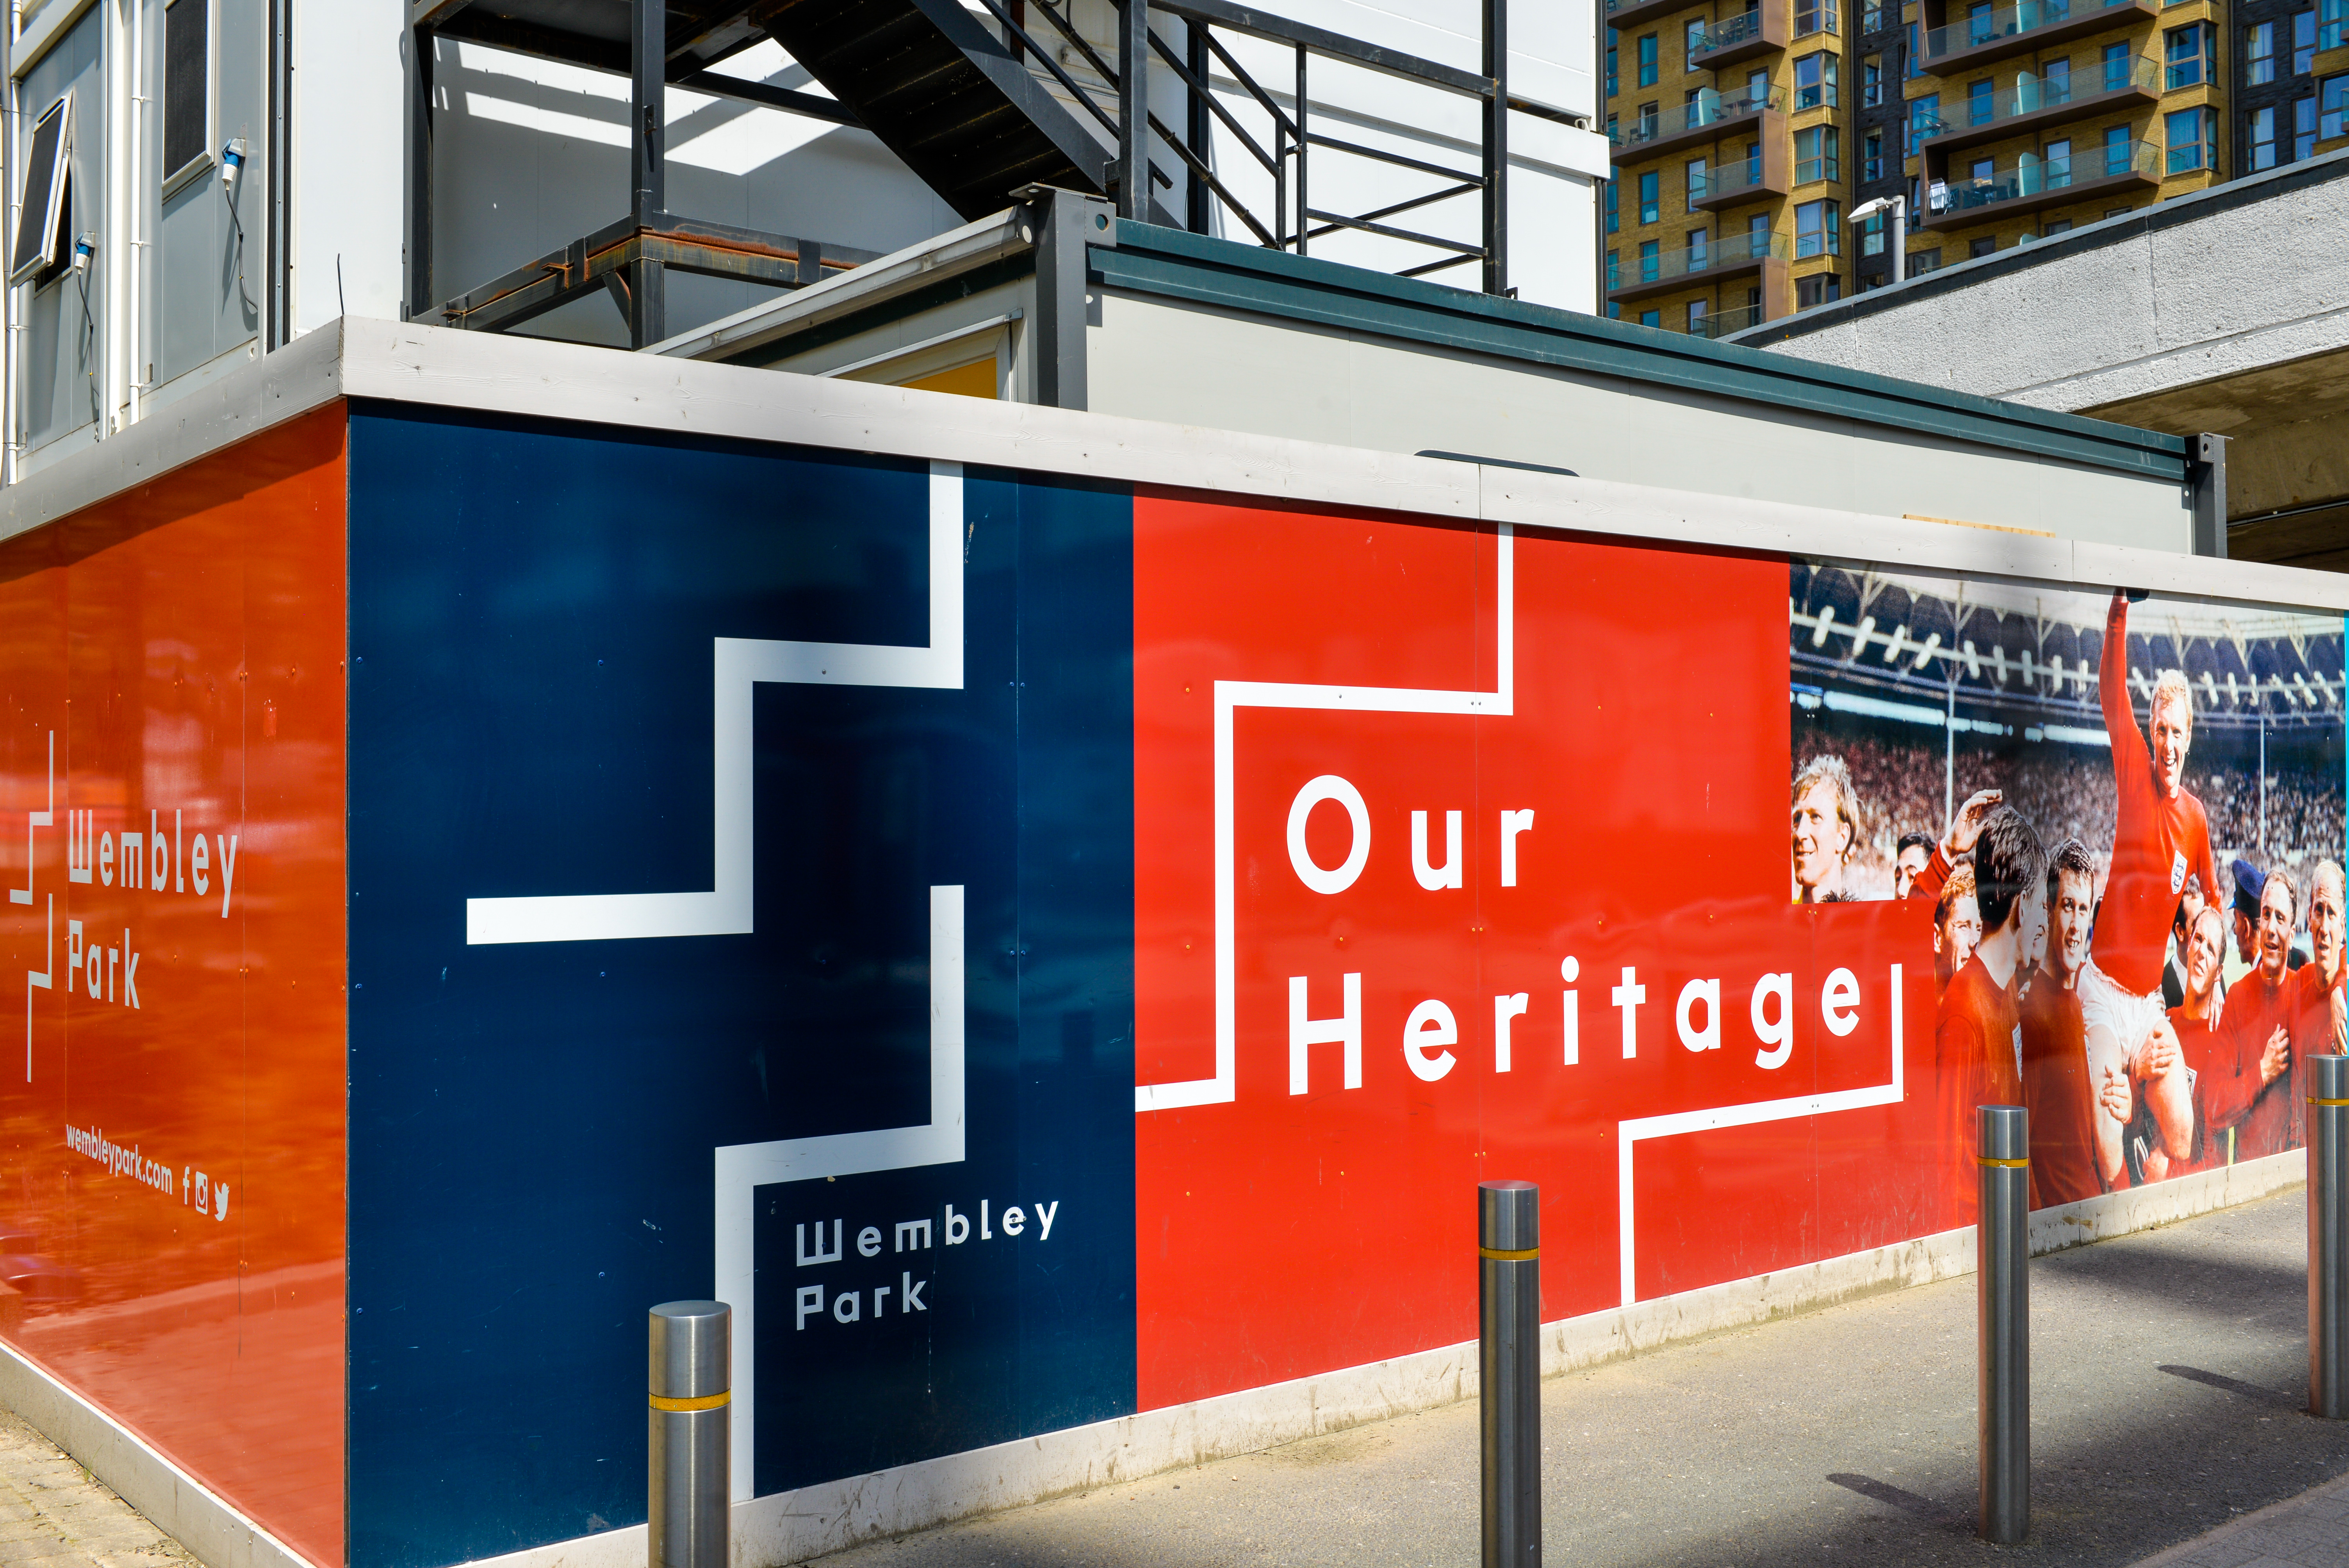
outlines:
[[[651,1317],[646,1568],[728,1568],[733,1307],[665,1300]]]

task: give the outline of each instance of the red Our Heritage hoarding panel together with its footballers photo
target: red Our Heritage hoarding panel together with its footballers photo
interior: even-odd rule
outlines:
[[[2340,674],[2337,617],[1139,498],[1139,1404],[1470,1338],[1480,1178],[1557,1319],[1971,1223],[1980,1103],[2041,1207],[2297,1148]]]

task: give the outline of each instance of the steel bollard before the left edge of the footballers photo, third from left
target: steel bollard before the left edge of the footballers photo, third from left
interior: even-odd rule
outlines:
[[[2032,1127],[2022,1106],[1978,1106],[1976,1117],[1983,1540],[2013,1547],[2032,1528]]]

